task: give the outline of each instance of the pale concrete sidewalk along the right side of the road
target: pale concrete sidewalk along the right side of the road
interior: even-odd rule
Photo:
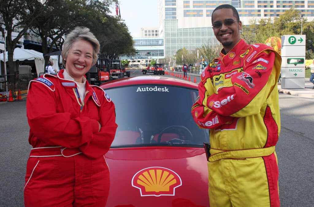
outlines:
[[[182,73],[183,72],[176,72],[176,73]],[[188,76],[201,76],[201,74],[197,73],[187,73]],[[296,89],[284,89],[281,88],[281,83],[278,83],[278,92],[279,93],[285,93],[293,96],[298,96],[302,98],[314,98],[314,89],[313,89],[313,83],[310,82],[310,78],[305,78],[305,88],[296,88]]]

